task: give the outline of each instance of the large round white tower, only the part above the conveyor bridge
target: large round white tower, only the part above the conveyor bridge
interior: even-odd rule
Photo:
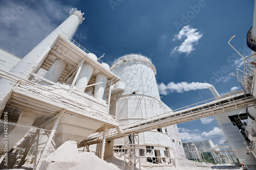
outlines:
[[[119,118],[119,124],[130,124],[164,113],[155,66],[150,59],[138,54],[125,55],[117,59],[111,69],[119,76],[119,84],[124,84],[124,91],[115,94],[117,101],[111,101],[111,113]]]

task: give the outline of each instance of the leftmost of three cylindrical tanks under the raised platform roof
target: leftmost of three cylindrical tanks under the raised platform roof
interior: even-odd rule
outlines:
[[[57,83],[62,72],[65,70],[67,64],[59,59],[55,60],[51,68],[47,71],[45,79]],[[42,83],[41,85],[49,85],[48,83]]]

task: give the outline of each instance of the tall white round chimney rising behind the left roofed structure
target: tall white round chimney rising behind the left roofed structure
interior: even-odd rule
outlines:
[[[20,60],[11,70],[12,74],[15,74],[24,79],[29,79],[31,73],[35,71],[35,68],[44,59],[48,50],[55,42],[56,38],[61,32],[68,36],[74,35],[77,27],[82,23],[82,13],[76,9],[70,11],[70,16],[61,23],[51,34],[49,34],[44,40],[36,45],[31,52],[29,52],[22,60]],[[10,92],[13,87],[13,83],[6,79],[0,80],[0,101]]]

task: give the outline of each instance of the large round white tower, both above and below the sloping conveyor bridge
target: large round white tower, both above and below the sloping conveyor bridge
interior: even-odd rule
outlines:
[[[120,81],[112,90],[110,113],[119,118],[119,124],[131,124],[164,113],[156,82],[156,68],[141,54],[127,54],[112,65]],[[124,139],[114,141],[114,151],[122,152]],[[167,128],[139,134],[140,163],[172,166],[173,152]],[[167,167],[166,167],[167,168]]]

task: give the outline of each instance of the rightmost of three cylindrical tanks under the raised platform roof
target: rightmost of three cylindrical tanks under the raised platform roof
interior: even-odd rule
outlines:
[[[98,74],[96,76],[95,83],[100,83],[100,82],[104,82],[104,83],[95,85],[95,90],[94,90],[94,98],[95,99],[97,99],[97,100],[102,99],[105,88],[106,88],[106,81],[108,81],[108,77],[106,75]]]

